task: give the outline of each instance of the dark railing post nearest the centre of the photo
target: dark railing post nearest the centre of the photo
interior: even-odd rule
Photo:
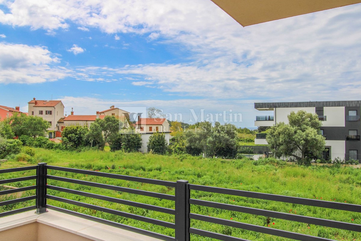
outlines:
[[[190,191],[186,180],[179,180],[175,186],[175,240],[189,241],[190,239]]]

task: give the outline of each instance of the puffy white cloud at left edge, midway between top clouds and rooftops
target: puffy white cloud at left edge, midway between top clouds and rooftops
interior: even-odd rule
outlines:
[[[65,78],[70,71],[47,48],[0,43],[0,83],[41,83]]]

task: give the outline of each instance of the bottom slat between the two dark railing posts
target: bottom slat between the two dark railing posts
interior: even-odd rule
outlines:
[[[175,241],[174,237],[170,237],[170,236],[167,236],[167,235],[164,235],[164,234],[155,233],[155,232],[147,231],[147,230],[144,230],[144,229],[131,227],[129,225],[125,225],[125,224],[117,223],[117,222],[114,222],[114,221],[109,221],[109,220],[97,218],[97,217],[86,215],[86,214],[81,214],[79,212],[70,211],[68,209],[55,207],[55,206],[52,206],[52,205],[47,205],[46,207],[51,209],[51,210],[54,210],[54,211],[63,212],[63,213],[69,214],[69,215],[77,216],[79,218],[84,218],[84,219],[92,220],[92,221],[95,221],[95,222],[98,222],[98,223],[103,223],[103,224],[110,225],[110,226],[113,226],[113,227],[125,229],[127,231],[140,233],[140,234],[143,234],[143,235],[147,235],[149,237],[158,238],[158,239],[165,240],[165,241]]]

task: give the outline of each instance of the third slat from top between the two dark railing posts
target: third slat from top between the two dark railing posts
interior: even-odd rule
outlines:
[[[96,198],[96,199],[100,199],[100,200],[104,200],[104,201],[120,203],[120,204],[129,205],[129,206],[133,206],[133,207],[145,208],[145,209],[149,209],[149,210],[153,210],[153,211],[157,211],[157,212],[164,212],[166,214],[173,214],[173,215],[175,214],[175,210],[171,209],[171,208],[165,208],[165,207],[159,207],[159,206],[154,206],[154,205],[149,205],[149,204],[144,204],[144,203],[139,203],[139,202],[133,202],[133,201],[128,201],[128,200],[124,200],[124,199],[120,199],[120,198],[113,198],[113,197],[103,196],[103,195],[99,195],[99,194],[87,193],[84,191],[78,191],[78,190],[73,190],[73,189],[68,189],[68,188],[61,188],[61,187],[52,186],[52,185],[47,185],[47,188],[52,189],[52,190],[57,190],[57,191],[64,191],[66,193],[81,195],[84,197]]]

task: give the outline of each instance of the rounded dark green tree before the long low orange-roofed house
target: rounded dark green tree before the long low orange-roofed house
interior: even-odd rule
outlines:
[[[62,145],[67,148],[75,148],[85,145],[85,136],[88,133],[87,126],[70,125],[62,132]]]

